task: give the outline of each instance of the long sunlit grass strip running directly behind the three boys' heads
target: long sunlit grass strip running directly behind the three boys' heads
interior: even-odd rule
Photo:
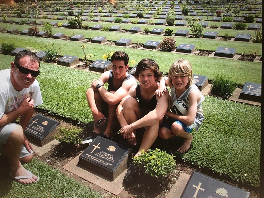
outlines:
[[[45,45],[50,46],[52,43],[55,43],[55,45],[62,47],[62,55],[73,55],[80,58],[84,56],[80,47],[83,43],[74,41],[45,39],[35,36],[27,37],[21,35],[1,34],[0,43],[6,41],[15,43],[17,47],[30,46],[38,49],[39,51],[45,51]],[[86,54],[91,53],[94,55],[90,58],[92,60],[103,59],[102,55],[104,53],[121,50],[127,52],[130,60],[135,60],[135,64],[143,58],[152,58],[157,61],[161,71],[168,71],[169,67],[175,60],[186,58],[192,64],[194,74],[205,75],[208,76],[209,79],[221,74],[237,80],[240,84],[244,84],[245,81],[261,83],[261,63],[175,54],[169,52],[153,52],[149,50],[97,45],[93,43],[85,43],[85,45]],[[135,64],[132,64],[131,66],[134,66]]]

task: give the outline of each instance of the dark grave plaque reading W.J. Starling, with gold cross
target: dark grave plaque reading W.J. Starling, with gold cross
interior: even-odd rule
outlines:
[[[114,181],[128,167],[131,158],[130,148],[97,136],[80,155],[78,164]]]

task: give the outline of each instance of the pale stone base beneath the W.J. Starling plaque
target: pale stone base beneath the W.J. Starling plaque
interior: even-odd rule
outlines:
[[[63,168],[71,173],[74,173],[75,175],[78,175],[80,178],[113,193],[114,195],[118,195],[124,189],[122,183],[127,169],[124,170],[124,172],[121,173],[114,181],[109,181],[103,179],[98,174],[89,172],[86,168],[78,165],[80,155],[68,162],[68,164],[63,166]]]

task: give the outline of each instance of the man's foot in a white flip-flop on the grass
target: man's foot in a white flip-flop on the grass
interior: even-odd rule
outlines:
[[[31,184],[31,183],[34,183],[35,181],[37,181],[39,179],[36,175],[33,175],[32,173],[30,173],[30,171],[26,170],[22,165],[19,166],[17,171],[11,171],[9,174],[14,179],[16,177],[25,176],[25,178],[16,179],[16,181],[21,183],[21,184]],[[26,178],[26,177],[30,177],[30,178]]]

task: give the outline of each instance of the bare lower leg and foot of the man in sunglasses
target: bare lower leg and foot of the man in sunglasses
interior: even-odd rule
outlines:
[[[19,154],[23,140],[23,129],[20,125],[18,125],[10,134],[7,142],[3,145],[3,152],[6,155],[10,165],[10,174],[14,177],[28,176],[28,171],[21,165],[21,162],[19,161]],[[38,177],[32,175],[32,178],[17,179],[17,181],[21,184],[30,184],[35,182],[37,179]]]

